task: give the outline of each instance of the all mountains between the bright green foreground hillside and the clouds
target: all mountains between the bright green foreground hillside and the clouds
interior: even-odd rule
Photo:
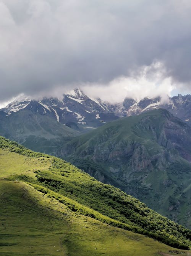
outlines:
[[[1,109],[0,135],[32,150],[67,157],[98,180],[191,226],[191,96],[168,100],[166,105],[160,97],[111,105],[79,89],[62,100],[20,98]]]

